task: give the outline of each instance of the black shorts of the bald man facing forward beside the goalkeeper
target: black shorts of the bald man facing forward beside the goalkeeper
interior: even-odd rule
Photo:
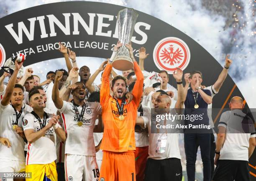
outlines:
[[[182,165],[178,158],[148,158],[144,181],[182,181]]]

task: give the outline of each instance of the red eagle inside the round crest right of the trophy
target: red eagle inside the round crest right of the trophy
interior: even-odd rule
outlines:
[[[162,50],[161,55],[160,55],[161,60],[164,60],[164,64],[170,64],[170,65],[174,65],[177,63],[179,64],[183,57],[183,55],[182,55],[183,53],[181,52],[182,50],[177,48],[174,51],[172,44],[170,45],[170,47],[168,49],[170,51],[166,50],[166,48],[164,48],[164,50]]]

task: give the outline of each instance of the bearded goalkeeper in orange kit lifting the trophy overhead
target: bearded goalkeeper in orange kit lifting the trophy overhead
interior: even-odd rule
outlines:
[[[134,127],[143,90],[143,74],[133,57],[131,44],[125,45],[129,49],[137,77],[132,92],[133,100],[128,103],[125,99],[127,84],[123,76],[115,76],[112,80],[111,90],[113,91],[113,97],[110,96],[109,76],[112,69],[112,61],[120,46],[122,44],[118,42],[114,47],[113,54],[102,74],[100,88],[100,104],[102,105],[102,120],[104,122],[104,133],[100,147],[103,150],[100,169],[100,180],[102,181],[136,180]]]

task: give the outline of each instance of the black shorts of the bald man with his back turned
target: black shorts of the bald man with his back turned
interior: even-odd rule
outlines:
[[[248,161],[218,160],[212,181],[250,181]]]

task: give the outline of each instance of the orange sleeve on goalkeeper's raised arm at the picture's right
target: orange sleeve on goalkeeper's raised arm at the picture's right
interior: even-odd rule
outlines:
[[[133,100],[135,102],[135,104],[138,105],[140,104],[140,101],[141,101],[141,95],[143,93],[143,80],[144,80],[144,76],[141,72],[141,69],[140,67],[138,66],[137,62],[134,61],[133,62],[134,64],[134,73],[137,77],[137,80],[134,84],[134,87],[133,87],[133,91],[132,91],[132,94],[133,94]]]

